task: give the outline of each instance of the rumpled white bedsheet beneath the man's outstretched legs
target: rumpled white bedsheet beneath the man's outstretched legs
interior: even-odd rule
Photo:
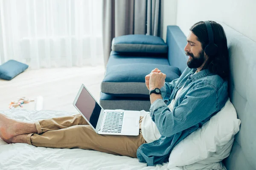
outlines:
[[[7,110],[0,111],[0,113],[25,122],[76,114],[64,111],[26,110]],[[52,149],[21,143],[7,144],[0,139],[1,170],[166,170],[167,165],[167,163],[163,163],[147,167],[138,159],[127,156],[115,156],[95,150]],[[183,168],[176,167],[172,170],[183,170]]]

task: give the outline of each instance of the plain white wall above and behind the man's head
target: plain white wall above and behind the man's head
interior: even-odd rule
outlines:
[[[189,28],[201,20],[221,21],[256,41],[256,0],[177,1],[177,26],[186,36]]]

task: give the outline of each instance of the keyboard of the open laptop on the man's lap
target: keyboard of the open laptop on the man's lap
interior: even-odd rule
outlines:
[[[106,111],[102,132],[121,133],[123,117],[123,111]]]

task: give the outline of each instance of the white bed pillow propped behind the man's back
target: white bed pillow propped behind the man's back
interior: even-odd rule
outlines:
[[[230,154],[240,124],[236,109],[228,99],[225,106],[208,122],[173,148],[168,168],[223,160]]]

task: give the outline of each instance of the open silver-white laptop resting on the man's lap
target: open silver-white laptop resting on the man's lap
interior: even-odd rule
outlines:
[[[140,111],[104,110],[83,84],[73,105],[98,134],[139,135]]]

